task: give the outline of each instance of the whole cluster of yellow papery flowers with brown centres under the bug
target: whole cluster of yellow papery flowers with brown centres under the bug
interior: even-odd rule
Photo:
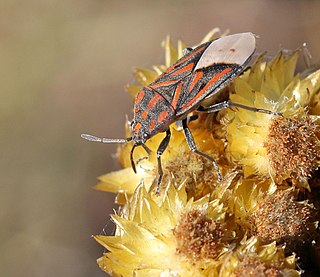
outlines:
[[[214,29],[205,38],[217,38]],[[135,97],[183,55],[163,43],[165,64],[137,68]],[[159,133],[136,148],[118,146],[123,169],[99,177],[96,188],[116,193],[113,236],[95,236],[107,249],[98,260],[112,276],[299,276],[317,269],[320,204],[320,70],[296,73],[301,50],[260,55],[225,90],[231,102],[274,113],[229,108],[199,114],[189,127],[201,152],[192,153],[172,124],[155,194]],[[280,116],[275,115],[281,114]],[[125,126],[130,137],[129,124]],[[319,268],[318,268],[319,269]]]

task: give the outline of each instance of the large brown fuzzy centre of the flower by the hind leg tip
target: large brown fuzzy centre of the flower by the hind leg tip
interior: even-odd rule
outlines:
[[[272,120],[264,146],[276,182],[288,178],[303,181],[311,176],[320,158],[318,135],[318,126],[311,117]]]

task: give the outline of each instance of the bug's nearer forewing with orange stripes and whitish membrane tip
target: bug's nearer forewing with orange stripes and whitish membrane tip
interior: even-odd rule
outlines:
[[[181,87],[183,98],[175,107],[176,115],[188,113],[204,98],[225,87],[243,71],[254,51],[252,33],[230,35],[211,42]]]

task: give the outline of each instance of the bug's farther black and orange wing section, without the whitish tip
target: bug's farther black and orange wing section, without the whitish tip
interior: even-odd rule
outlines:
[[[169,103],[173,103],[173,108],[179,103],[181,86],[187,83],[188,78],[193,74],[203,52],[211,44],[204,43],[189,51],[176,63],[171,65],[159,78],[148,85],[149,88],[161,94]]]

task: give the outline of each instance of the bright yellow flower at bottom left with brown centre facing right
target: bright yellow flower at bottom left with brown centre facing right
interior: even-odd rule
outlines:
[[[168,184],[156,197],[140,185],[112,216],[115,236],[95,236],[110,251],[98,263],[113,276],[218,276],[236,239],[225,211],[209,195],[188,200],[184,185]]]

